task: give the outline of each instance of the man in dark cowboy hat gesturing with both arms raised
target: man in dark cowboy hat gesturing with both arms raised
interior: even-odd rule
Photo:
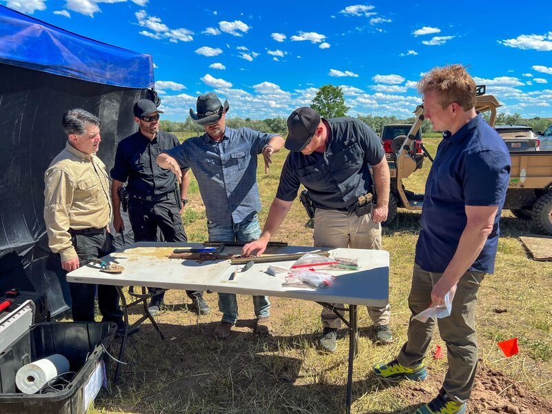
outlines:
[[[190,108],[195,124],[205,134],[188,138],[179,146],[161,152],[157,163],[172,170],[181,181],[181,170],[191,168],[199,184],[207,215],[210,241],[250,242],[261,235],[257,212],[261,209],[257,188],[257,155],[264,157],[265,170],[284,138],[249,128],[228,128],[225,124],[228,101],[224,105],[214,93],[197,98],[197,112]],[[257,332],[270,333],[270,302],[266,296],[253,296]],[[236,295],[219,293],[222,320],[213,335],[224,339],[237,322]]]

